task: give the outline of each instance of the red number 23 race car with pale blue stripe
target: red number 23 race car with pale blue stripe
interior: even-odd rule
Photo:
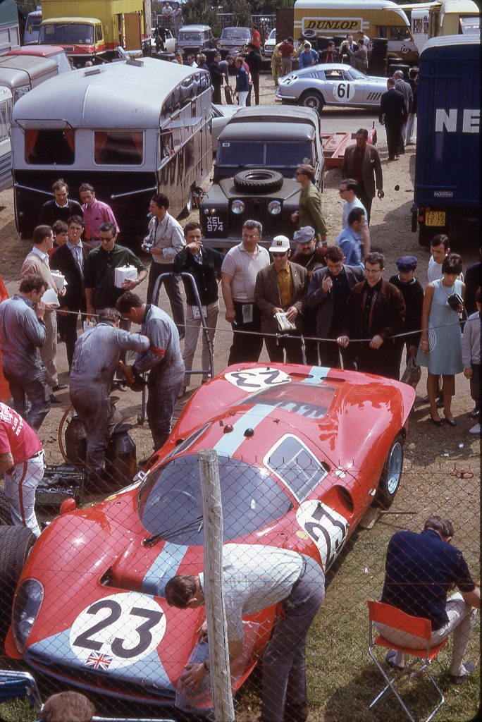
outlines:
[[[87,508],[64,503],[22,570],[9,656],[88,690],[182,706],[184,666],[208,654],[196,634],[204,611],[167,606],[164,589],[176,573],[203,568],[198,451],[214,448],[219,458],[230,551],[284,547],[326,569],[367,508],[393,502],[414,396],[363,373],[228,367],[197,391],[130,487]],[[271,607],[245,619],[235,688],[274,615]],[[204,692],[191,706],[209,706]]]

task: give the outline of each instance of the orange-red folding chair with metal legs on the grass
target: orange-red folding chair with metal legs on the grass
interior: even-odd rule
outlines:
[[[380,669],[385,682],[387,682],[387,686],[384,687],[384,689],[380,692],[377,697],[374,698],[373,702],[369,705],[369,709],[372,709],[374,705],[376,705],[380,700],[382,699],[383,695],[385,695],[385,692],[388,690],[391,690],[395,697],[397,697],[398,702],[400,705],[402,705],[403,709],[406,712],[406,715],[408,716],[408,719],[411,722],[416,722],[415,718],[411,715],[410,711],[408,710],[406,704],[404,703],[402,697],[398,694],[398,689],[405,684],[405,682],[408,681],[408,679],[411,679],[411,677],[414,677],[415,675],[419,675],[421,677],[422,674],[426,674],[426,676],[429,678],[431,684],[435,687],[437,690],[437,693],[439,695],[439,702],[434,707],[433,710],[431,710],[431,713],[426,718],[425,722],[429,722],[431,718],[434,716],[434,714],[439,710],[439,708],[442,707],[445,698],[442,693],[442,690],[440,690],[439,685],[437,682],[435,682],[434,678],[431,676],[429,672],[429,666],[431,664],[431,661],[437,656],[439,651],[445,646],[447,643],[447,639],[445,639],[442,643],[431,647],[430,646],[430,638],[431,638],[431,622],[430,619],[424,619],[423,617],[411,617],[410,614],[406,614],[405,612],[402,612],[400,609],[397,609],[395,606],[391,606],[391,604],[384,604],[381,601],[372,601],[372,599],[367,600],[368,609],[369,609],[369,645],[368,645],[368,653],[369,656],[372,658],[374,663],[377,665],[378,669]],[[373,637],[373,625],[374,622],[378,622],[382,625],[387,625],[390,627],[393,627],[393,629],[400,630],[400,632],[408,632],[408,634],[415,635],[416,637],[419,637],[423,640],[426,640],[426,646],[424,646],[421,649],[408,649],[406,647],[395,645],[393,642],[389,642],[385,637],[382,635],[378,635],[377,638],[374,639]],[[375,632],[377,632],[377,629],[375,627]],[[411,661],[409,664],[407,664],[403,669],[400,669],[400,671],[395,672],[395,677],[389,677],[385,669],[383,668],[382,664],[380,664],[380,661],[377,659],[377,655],[374,652],[374,648],[376,646],[380,647],[387,647],[389,649],[394,649],[398,652],[404,652],[408,655],[413,656],[413,661]]]

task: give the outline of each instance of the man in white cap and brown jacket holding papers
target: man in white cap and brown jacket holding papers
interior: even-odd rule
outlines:
[[[276,313],[286,314],[286,319],[295,328],[288,331],[289,336],[299,336],[302,330],[304,297],[307,292],[307,270],[297,264],[290,264],[289,238],[277,235],[269,252],[273,263],[258,271],[255,284],[255,304],[261,311],[261,331],[264,334],[278,334],[280,329]],[[302,347],[298,339],[265,336],[264,341],[270,361],[302,363]]]

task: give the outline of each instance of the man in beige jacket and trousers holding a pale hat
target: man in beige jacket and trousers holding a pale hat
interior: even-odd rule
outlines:
[[[57,294],[57,286],[54,281],[50,264],[48,262],[48,251],[53,248],[53,231],[50,226],[37,226],[33,232],[33,248],[28,253],[20,271],[20,278],[30,274],[37,274],[47,284],[47,288]],[[65,294],[65,291],[63,291]],[[47,335],[45,344],[40,347],[40,358],[47,373],[47,383],[50,386],[51,404],[60,404],[60,399],[53,396],[53,391],[61,391],[67,388],[64,383],[58,383],[57,374],[57,315],[50,305],[45,308],[45,329]]]

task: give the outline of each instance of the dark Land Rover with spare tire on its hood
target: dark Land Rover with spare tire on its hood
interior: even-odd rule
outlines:
[[[302,162],[315,167],[315,183],[323,188],[320,118],[314,110],[240,108],[219,134],[214,183],[201,201],[204,244],[239,243],[250,218],[263,223],[265,245],[279,233],[292,234],[301,190],[294,173]]]

